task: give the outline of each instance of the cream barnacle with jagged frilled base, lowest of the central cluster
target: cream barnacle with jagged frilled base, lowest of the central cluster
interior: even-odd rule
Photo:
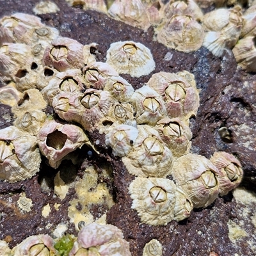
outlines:
[[[148,225],[167,225],[174,217],[176,186],[163,178],[134,179],[129,186],[132,209]]]

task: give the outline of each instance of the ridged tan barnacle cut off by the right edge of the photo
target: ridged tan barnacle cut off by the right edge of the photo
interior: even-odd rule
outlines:
[[[256,72],[256,38],[247,36],[239,40],[232,50],[238,65],[246,72]]]

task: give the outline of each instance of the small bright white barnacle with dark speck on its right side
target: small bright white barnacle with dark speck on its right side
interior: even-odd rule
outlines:
[[[106,145],[112,148],[114,156],[124,157],[131,151],[138,136],[138,129],[131,125],[111,125],[106,132]]]

